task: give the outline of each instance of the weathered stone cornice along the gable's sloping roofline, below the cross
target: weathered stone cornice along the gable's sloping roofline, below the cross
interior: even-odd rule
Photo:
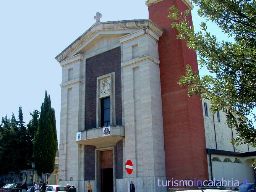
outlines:
[[[152,31],[162,31],[162,29],[150,19],[97,22],[67,48],[65,48],[59,55],[57,55],[55,59],[59,63],[62,62],[67,56],[75,52],[79,47],[89,41],[93,36],[97,35],[100,31],[120,31],[120,33],[123,31],[123,33],[127,33],[127,30],[138,30],[146,27],[151,28]]]

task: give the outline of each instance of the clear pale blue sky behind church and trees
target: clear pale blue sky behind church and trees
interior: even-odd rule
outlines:
[[[192,11],[196,30],[203,20]],[[92,24],[96,12],[101,21],[148,18],[145,0],[14,0],[0,2],[0,118],[18,119],[23,108],[24,121],[29,111],[40,111],[47,90],[55,109],[57,134],[60,130],[62,68],[54,59]],[[209,31],[225,40],[214,24]],[[201,70],[200,73],[206,72]]]

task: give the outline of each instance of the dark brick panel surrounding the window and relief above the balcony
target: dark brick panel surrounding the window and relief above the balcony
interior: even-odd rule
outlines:
[[[115,124],[122,125],[121,50],[117,47],[86,59],[86,130],[96,127],[97,77],[112,72],[115,72]]]

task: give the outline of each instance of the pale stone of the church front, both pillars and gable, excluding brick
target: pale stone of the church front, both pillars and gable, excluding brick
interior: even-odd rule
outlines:
[[[123,26],[123,23],[120,24]],[[115,23],[113,27],[118,27],[120,24]],[[128,37],[131,42],[128,40],[123,44],[131,45],[128,46],[130,53],[127,52],[127,48],[123,52],[123,45],[121,45],[121,60],[124,61],[124,58],[125,61],[131,60],[131,47],[133,43],[139,45],[139,56],[144,57],[139,60],[136,58],[131,62],[137,65],[134,65],[137,69],[130,67],[130,64],[127,68],[125,67],[125,70],[122,67],[123,125],[125,124],[129,127],[129,129],[125,130],[127,138],[123,139],[124,177],[127,176],[125,161],[127,158],[132,159],[131,156],[134,155],[135,174],[131,177],[136,176],[137,173],[141,176],[134,178],[136,185],[138,183],[136,189],[141,191],[162,191],[162,189],[157,189],[156,187],[156,176],[163,176],[161,178],[165,178],[162,103],[157,47],[157,40],[162,34],[162,29],[147,19],[145,23],[147,26],[143,25],[139,29],[138,24],[140,23],[134,24],[134,22],[131,22],[129,24],[129,22],[126,22],[125,26],[122,27],[120,25],[121,27],[118,30],[105,30],[103,28],[107,25],[104,25],[103,28],[102,24],[95,25],[92,27],[93,30],[89,31],[94,35],[90,36],[88,32],[83,36],[83,39],[88,37],[83,45],[74,47],[79,43],[76,42],[69,49],[72,50],[71,53],[66,50],[66,52],[63,52],[63,55],[57,58],[58,61],[61,58],[66,58],[60,62],[63,73],[61,84],[59,184],[63,186],[66,186],[67,183],[75,184],[78,191],[84,191],[87,184],[87,181],[84,181],[84,145],[76,142],[76,132],[84,131],[86,58],[119,47],[121,45],[120,38],[122,39],[126,34],[131,34],[133,38]],[[151,28],[149,29],[149,27]],[[99,31],[97,32],[97,30]],[[68,79],[68,69],[71,68],[73,68],[73,78]],[[124,77],[124,74],[127,76]],[[125,81],[127,78],[129,80]],[[135,86],[134,81],[136,81]],[[133,90],[136,90],[135,96]],[[131,98],[124,95],[124,92],[129,91],[132,91]],[[134,102],[130,103],[130,99],[136,100],[136,104],[138,104],[135,110]],[[129,103],[131,106],[129,106]],[[133,114],[133,118],[129,116],[129,113],[131,113],[131,116]],[[134,127],[135,121],[136,126]],[[129,126],[130,124],[133,125],[133,128]],[[135,133],[138,133],[138,135]],[[139,151],[135,154],[135,151],[138,150],[136,147],[139,146]],[[102,145],[99,147],[108,146]],[[139,161],[139,166],[137,166],[139,172],[136,171],[136,159]],[[72,181],[70,181],[71,178]],[[92,188],[97,191],[96,182],[91,181],[91,184]],[[128,189],[128,186],[126,188]]]

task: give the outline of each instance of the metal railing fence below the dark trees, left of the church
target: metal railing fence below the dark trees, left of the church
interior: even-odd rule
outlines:
[[[43,183],[48,181],[49,185],[58,184],[58,174],[43,173],[37,174],[37,171],[32,169],[20,170],[16,172],[9,172],[7,174],[0,175],[0,181],[4,183],[24,183],[26,181],[28,186],[32,186],[33,182],[42,181]]]

